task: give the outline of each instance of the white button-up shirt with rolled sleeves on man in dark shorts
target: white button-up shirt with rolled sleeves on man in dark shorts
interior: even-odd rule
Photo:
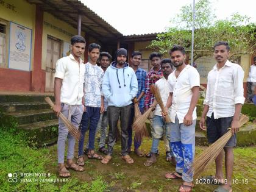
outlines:
[[[244,71],[240,65],[229,60],[218,70],[217,64],[208,73],[204,105],[209,105],[208,117],[233,116],[235,104],[244,104]]]

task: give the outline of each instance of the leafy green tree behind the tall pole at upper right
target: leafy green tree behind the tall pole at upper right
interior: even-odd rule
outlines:
[[[256,25],[250,23],[248,16],[235,13],[230,19],[216,20],[209,0],[199,0],[195,10],[193,61],[212,55],[213,45],[218,41],[229,42],[231,59],[236,59],[239,54],[255,54]],[[171,20],[172,26],[167,32],[158,34],[149,47],[165,53],[173,44],[181,44],[190,54],[192,15],[191,5],[183,6],[180,14]]]

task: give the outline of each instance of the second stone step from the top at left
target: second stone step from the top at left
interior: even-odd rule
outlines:
[[[1,102],[1,112],[24,112],[27,110],[49,109],[50,106],[46,102]]]

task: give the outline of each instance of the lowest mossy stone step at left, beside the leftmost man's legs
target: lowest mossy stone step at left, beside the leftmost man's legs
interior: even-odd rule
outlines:
[[[58,120],[22,124],[18,126],[18,130],[24,130],[27,133],[30,146],[46,146],[57,142]]]

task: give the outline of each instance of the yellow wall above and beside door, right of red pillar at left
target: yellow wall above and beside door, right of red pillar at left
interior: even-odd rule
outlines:
[[[49,23],[50,25],[47,23]],[[64,30],[65,32],[60,31],[60,29]],[[77,35],[77,29],[70,26],[68,23],[65,23],[64,21],[61,21],[55,18],[50,13],[47,13],[47,12],[43,13],[43,43],[42,43],[43,45],[42,45],[42,65],[41,65],[42,69],[46,68],[47,35],[51,35],[52,37],[62,40],[62,43],[63,41],[70,43],[70,39],[72,35]],[[85,37],[84,32],[82,32],[81,35]],[[62,57],[62,51],[61,51],[60,57]]]

